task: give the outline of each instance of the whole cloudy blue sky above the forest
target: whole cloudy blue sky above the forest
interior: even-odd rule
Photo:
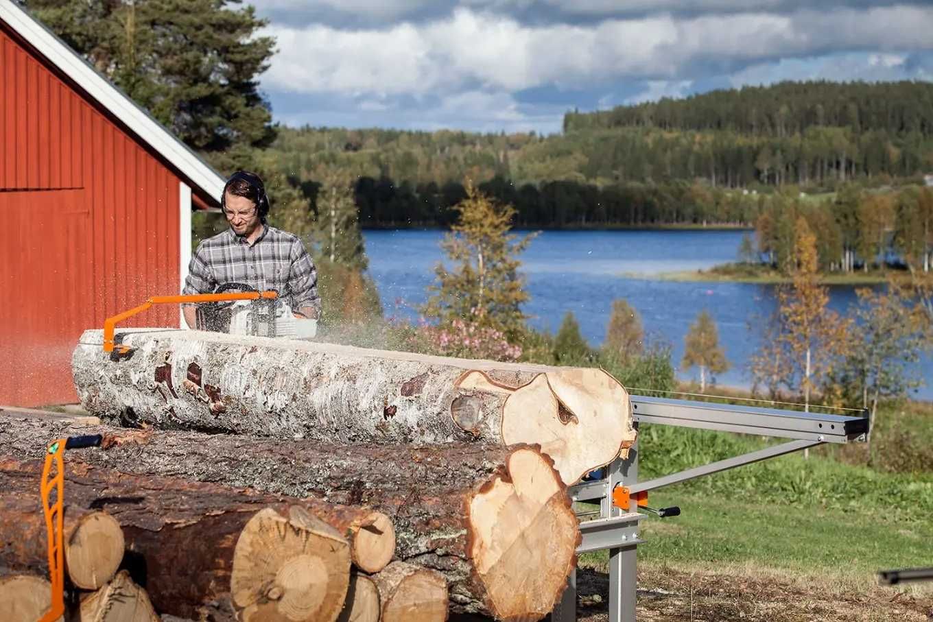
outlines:
[[[561,131],[564,112],[781,80],[933,80],[933,0],[252,0],[299,127]],[[818,7],[818,8],[815,8]]]

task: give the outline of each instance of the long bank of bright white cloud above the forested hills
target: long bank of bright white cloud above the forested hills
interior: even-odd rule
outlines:
[[[836,49],[933,48],[933,11],[887,7],[661,15],[592,25],[529,26],[460,8],[423,24],[341,30],[273,24],[279,54],[264,76],[272,90],[391,93],[580,87],[615,78],[684,80],[698,65],[728,67]],[[879,57],[882,58],[882,57]],[[885,62],[894,58],[885,55]]]

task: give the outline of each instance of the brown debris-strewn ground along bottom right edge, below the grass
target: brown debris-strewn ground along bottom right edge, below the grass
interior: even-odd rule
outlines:
[[[605,573],[577,574],[580,622],[608,620]],[[644,566],[638,571],[639,622],[928,622],[933,587],[881,587],[870,579],[801,576],[751,567],[678,569]]]

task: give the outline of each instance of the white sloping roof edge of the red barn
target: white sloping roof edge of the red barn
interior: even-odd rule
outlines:
[[[123,91],[97,73],[90,63],[52,34],[40,21],[35,20],[13,0],[0,0],[0,20],[6,21],[15,33],[25,39],[65,76],[85,90],[91,98],[104,106],[124,123],[140,141],[155,149],[188,180],[214,200],[220,200],[226,180],[201,159],[188,145],[165,129],[146,110],[132,101]]]

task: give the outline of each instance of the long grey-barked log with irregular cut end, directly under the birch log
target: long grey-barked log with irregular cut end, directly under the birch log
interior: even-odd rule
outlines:
[[[73,461],[379,509],[395,525],[397,560],[444,574],[456,613],[542,617],[576,563],[578,522],[564,484],[536,449],[332,446],[15,420],[0,421],[0,447],[21,458],[46,438],[78,430],[103,434],[108,449]],[[507,550],[524,557],[495,557]]]

